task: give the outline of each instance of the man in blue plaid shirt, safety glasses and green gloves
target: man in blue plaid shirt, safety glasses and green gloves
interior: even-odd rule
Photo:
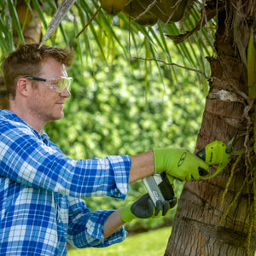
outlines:
[[[3,61],[10,110],[0,110],[0,255],[65,255],[67,240],[76,247],[123,241],[125,222],[159,217],[172,206],[159,211],[144,195],[119,211],[90,212],[80,198],[125,199],[129,183],[154,172],[189,181],[200,177],[199,168],[209,170],[175,148],[91,160],[62,154],[43,127],[64,115],[72,60],[64,49],[25,44]]]

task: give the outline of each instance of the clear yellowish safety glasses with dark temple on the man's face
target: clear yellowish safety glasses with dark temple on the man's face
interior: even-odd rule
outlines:
[[[24,79],[33,79],[41,82],[45,82],[45,84],[49,87],[51,90],[55,90],[59,93],[61,93],[63,90],[67,88],[67,90],[70,91],[71,84],[73,82],[73,78],[71,77],[58,77],[58,78],[52,78],[52,79],[42,79],[38,77],[33,76],[26,76]]]

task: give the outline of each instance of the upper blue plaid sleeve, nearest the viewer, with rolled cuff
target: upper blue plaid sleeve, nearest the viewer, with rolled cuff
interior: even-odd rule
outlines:
[[[44,143],[30,127],[14,123],[0,124],[1,176],[75,197],[125,198],[131,168],[128,155],[73,160],[53,143]]]

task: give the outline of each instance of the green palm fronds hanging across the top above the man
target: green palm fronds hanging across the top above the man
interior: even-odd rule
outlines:
[[[31,2],[31,3],[30,3]],[[1,8],[9,8],[9,16],[2,12],[0,17],[0,25],[2,28],[2,33],[4,34],[4,39],[0,39],[1,48],[10,50],[14,43],[12,42],[12,26],[15,26],[19,39],[21,43],[24,43],[24,38],[22,38],[22,28],[19,25],[19,20],[15,12],[15,6],[11,4],[11,0],[6,0],[6,3],[1,3]],[[66,17],[69,12],[73,16],[73,26],[76,32],[79,32],[90,20],[96,11],[99,8],[100,3],[97,1],[85,1],[80,0],[76,2],[75,0],[62,1],[61,5],[57,8],[55,2],[46,0],[44,6],[40,6],[38,0],[26,0],[26,4],[29,7],[30,11],[31,4],[34,9],[38,12],[40,19],[43,22],[44,30],[44,39],[41,44],[48,38],[53,38],[53,32],[60,28],[61,36],[64,38],[65,44],[69,44],[70,39],[68,39],[67,32],[65,30],[64,24],[61,24],[61,21]],[[47,21],[49,19],[49,13],[44,12],[44,8],[51,10],[51,13],[54,14],[49,25]],[[74,8],[73,8],[74,7]],[[182,32],[193,29],[193,26],[196,26],[198,20],[200,20],[200,4],[194,4],[193,8],[190,11],[188,17],[183,20],[183,25],[181,26],[178,23],[164,24],[159,21],[157,25],[153,27],[140,26],[134,20],[130,20],[127,15],[124,15],[122,12],[118,16],[111,17],[104,10],[100,10],[96,17],[90,22],[87,27],[87,31],[83,32],[80,37],[76,39],[76,44],[78,45],[79,55],[81,58],[81,63],[83,62],[83,55],[86,56],[86,61],[93,59],[93,49],[90,45],[90,40],[94,39],[98,49],[102,54],[102,60],[105,61],[108,65],[108,57],[112,55],[112,60],[116,55],[116,49],[119,47],[123,51],[123,55],[127,61],[132,61],[133,59],[144,59],[145,63],[145,80],[147,79],[148,66],[151,65],[148,60],[152,60],[159,69],[160,79],[162,79],[161,65],[163,63],[170,64],[166,68],[170,70],[172,76],[172,84],[177,84],[177,68],[180,66],[188,67],[190,69],[198,69],[201,73],[204,73],[204,76],[201,76],[201,73],[198,73],[202,79],[202,84],[205,84],[205,90],[207,92],[207,83],[206,78],[208,72],[208,66],[205,61],[205,55],[212,54],[212,35],[207,31],[207,29],[202,28],[201,30],[192,34],[190,38],[187,38],[187,42],[176,44],[177,52],[182,56],[181,63],[178,63],[177,67],[172,65],[173,55],[170,49],[171,40],[166,38],[168,35],[178,35]],[[11,22],[9,21],[11,19]],[[122,22],[123,29],[129,31],[126,45],[121,43],[118,34],[118,22]],[[81,26],[81,27],[80,27]],[[90,33],[89,33],[90,31]],[[143,38],[144,44],[139,43]],[[6,40],[7,39],[7,40]],[[104,44],[103,42],[108,42]],[[52,40],[52,44],[55,42]],[[141,49],[143,51],[141,51]],[[131,52],[132,51],[132,52]],[[144,52],[144,53],[143,53]],[[152,62],[151,61],[151,62]],[[160,62],[161,61],[161,62]],[[163,80],[163,79],[162,79]]]

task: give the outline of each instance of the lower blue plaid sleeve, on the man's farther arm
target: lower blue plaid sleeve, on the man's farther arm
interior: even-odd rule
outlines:
[[[124,241],[126,236],[124,227],[104,240],[104,223],[113,211],[91,212],[84,201],[76,198],[69,198],[69,204],[67,240],[75,247],[108,247],[113,243]]]

